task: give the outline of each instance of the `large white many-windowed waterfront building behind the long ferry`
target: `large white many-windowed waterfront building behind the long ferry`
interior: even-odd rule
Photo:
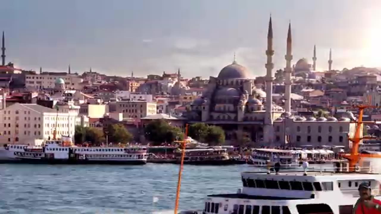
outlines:
[[[30,144],[37,141],[70,135],[74,142],[74,129],[78,125],[77,112],[59,112],[37,104],[13,104],[0,110],[3,125],[0,144]],[[80,122],[79,122],[80,124]]]

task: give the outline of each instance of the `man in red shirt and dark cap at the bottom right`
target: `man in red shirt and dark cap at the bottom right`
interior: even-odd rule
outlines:
[[[381,214],[381,201],[373,198],[368,182],[359,185],[360,198],[357,200],[353,214]]]

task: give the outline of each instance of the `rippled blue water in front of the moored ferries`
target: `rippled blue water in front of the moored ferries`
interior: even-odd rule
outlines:
[[[0,213],[128,213],[171,210],[179,166],[0,164]],[[253,166],[184,166],[179,209],[208,194],[235,193]],[[154,203],[153,199],[158,201]]]

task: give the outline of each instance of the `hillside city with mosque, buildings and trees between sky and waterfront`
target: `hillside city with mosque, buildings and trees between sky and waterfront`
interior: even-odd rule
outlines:
[[[294,63],[291,34],[290,24],[285,63],[274,65],[270,18],[263,77],[250,78],[232,54],[217,77],[188,79],[181,68],[147,77],[108,76],[91,67],[73,73],[70,65],[67,72],[18,68],[8,62],[3,32],[0,144],[40,145],[55,129],[76,144],[166,145],[182,139],[189,124],[189,136],[210,145],[349,147],[352,105],[380,104],[381,70],[335,68],[334,50],[321,59],[327,70],[317,70],[313,44],[311,56]],[[381,114],[367,112],[364,120],[379,121]],[[380,131],[363,127],[375,136]]]

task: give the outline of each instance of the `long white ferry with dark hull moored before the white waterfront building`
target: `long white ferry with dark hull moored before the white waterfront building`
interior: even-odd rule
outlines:
[[[5,145],[0,149],[5,163],[146,164],[147,147],[78,147],[63,141],[46,141],[42,147]]]

